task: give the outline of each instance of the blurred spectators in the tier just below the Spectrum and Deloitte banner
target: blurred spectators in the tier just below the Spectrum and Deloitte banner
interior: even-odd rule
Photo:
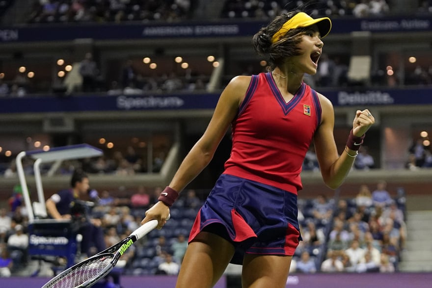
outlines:
[[[65,160],[58,168],[57,175],[70,175],[73,170],[81,168],[89,174],[113,174],[132,176],[140,173],[158,173],[165,161],[169,147],[162,147],[156,151],[152,157],[152,166],[147,166],[146,151],[135,149],[133,146],[127,146],[124,150],[116,150],[109,155],[93,158],[83,158],[77,160]],[[144,153],[144,154],[142,154]],[[430,146],[424,145],[424,139],[419,138],[413,142],[406,153],[405,168],[409,170],[427,169],[432,167],[432,152]],[[41,173],[47,173],[53,163],[43,163],[40,167]],[[354,160],[353,168],[355,170],[368,171],[379,167],[377,160],[369,154],[369,148],[362,146],[358,156]],[[24,173],[33,175],[33,161],[24,158]],[[307,151],[303,160],[302,171],[320,171],[317,156],[313,147]],[[0,163],[0,175],[4,178],[17,178],[15,158],[10,162]]]

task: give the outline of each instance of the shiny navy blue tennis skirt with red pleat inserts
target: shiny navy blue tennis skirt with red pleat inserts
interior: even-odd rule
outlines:
[[[230,241],[234,264],[242,264],[245,253],[292,256],[301,240],[297,195],[222,174],[195,218],[189,242],[201,231]]]

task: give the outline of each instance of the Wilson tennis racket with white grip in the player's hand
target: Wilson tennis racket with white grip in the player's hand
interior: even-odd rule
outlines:
[[[120,257],[136,240],[142,238],[157,226],[158,220],[150,220],[117,244],[64,270],[48,281],[42,288],[91,287],[108,275]]]

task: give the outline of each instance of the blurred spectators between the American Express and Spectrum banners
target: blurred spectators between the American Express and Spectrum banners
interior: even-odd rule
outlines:
[[[334,87],[352,87],[364,85],[351,81],[348,76],[349,56],[328,55],[323,53],[320,58],[317,74],[307,75],[304,81],[316,89]],[[90,52],[86,53],[80,62],[79,75],[82,81],[72,85],[64,81],[62,84],[51,87],[39,87],[37,83],[27,77],[27,72],[17,72],[13,79],[0,78],[0,98],[21,98],[28,94],[56,93],[55,89],[64,89],[63,93],[74,95],[80,93],[99,93],[102,95],[145,95],[148,93],[205,93],[208,91],[210,74],[197,73],[193,69],[182,69],[180,72],[154,73],[142,75],[136,63],[130,59],[125,60],[117,79],[110,82],[100,70],[98,59],[94,59]],[[251,74],[264,72],[265,69],[248,71]],[[404,73],[403,76],[400,74]],[[432,85],[432,66],[418,64],[412,70],[405,72],[395,69],[395,74],[388,76],[386,71],[377,69],[371,71],[370,86],[396,87],[400,85],[428,86]]]

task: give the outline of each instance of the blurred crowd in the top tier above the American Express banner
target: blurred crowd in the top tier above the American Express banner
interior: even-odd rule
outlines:
[[[5,1],[9,2],[9,1]],[[34,0],[28,23],[176,22],[193,19],[197,0]],[[380,17],[395,14],[387,0],[225,0],[220,18],[268,20],[298,6],[317,16]],[[414,13],[431,12],[431,1],[421,0]]]

